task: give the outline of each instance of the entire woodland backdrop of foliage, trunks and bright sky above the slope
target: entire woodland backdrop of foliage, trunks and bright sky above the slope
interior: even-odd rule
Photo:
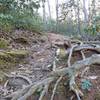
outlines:
[[[56,19],[50,0],[0,0],[0,28],[28,29],[65,35],[100,32],[99,0],[55,0]],[[46,10],[48,7],[48,11]],[[42,15],[39,13],[42,9]]]

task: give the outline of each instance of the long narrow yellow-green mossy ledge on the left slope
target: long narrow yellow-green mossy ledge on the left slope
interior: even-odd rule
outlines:
[[[19,57],[24,58],[28,55],[28,51],[26,50],[11,50],[5,52],[7,55],[13,56],[13,57]]]

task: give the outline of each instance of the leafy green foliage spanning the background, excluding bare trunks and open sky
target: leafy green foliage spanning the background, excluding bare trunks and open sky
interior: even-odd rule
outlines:
[[[84,29],[83,20],[78,23],[77,2],[69,0],[59,5],[60,14],[58,22],[49,18],[43,22],[38,14],[40,3],[43,0],[0,0],[0,30],[10,32],[13,29],[24,29],[31,31],[56,32],[64,35],[78,35],[78,28],[83,34],[97,34],[100,32],[100,16],[92,16],[92,23]],[[44,0],[44,2],[46,2]],[[73,13],[75,12],[75,13]],[[81,10],[80,10],[81,12]],[[50,14],[51,15],[51,14]],[[46,16],[46,15],[45,15]],[[81,23],[82,20],[82,23]]]

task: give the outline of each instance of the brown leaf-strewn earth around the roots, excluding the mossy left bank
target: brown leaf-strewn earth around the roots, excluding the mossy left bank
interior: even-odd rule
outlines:
[[[25,57],[23,61],[18,62],[14,65],[11,64],[10,67],[2,68],[0,65],[0,70],[8,74],[28,77],[31,82],[37,82],[44,79],[48,75],[48,73],[52,71],[52,64],[55,59],[55,51],[57,49],[56,47],[61,47],[63,44],[66,44],[68,46],[70,45],[69,37],[54,33],[39,34],[29,31],[16,30],[13,33],[0,33],[0,37],[5,38],[9,41],[9,46],[7,49],[27,50],[29,53],[29,55]],[[86,57],[88,57],[94,53],[96,52],[86,51],[85,55]],[[81,59],[81,54],[79,52],[76,52],[72,56],[71,63],[73,64],[75,61]],[[18,58],[18,60],[20,61],[20,58]],[[67,58],[61,59],[60,61],[61,62],[57,63],[57,67],[67,66]],[[81,89],[85,94],[84,97],[82,97],[82,100],[100,100],[100,66],[92,65],[92,67],[88,70],[88,73],[85,73],[85,77],[88,76],[97,76],[97,78],[89,79],[92,83],[90,91]],[[0,84],[0,97],[3,96],[3,87],[6,80],[10,80],[7,86],[8,91],[11,91],[11,88],[13,91],[16,91],[19,88],[22,88],[22,84],[29,84],[26,84],[25,80],[23,81],[20,79],[14,80],[14,78],[6,78]],[[76,80],[76,83],[79,84],[79,87],[80,80],[80,77]],[[67,83],[66,78],[63,79],[62,82],[60,82],[54,100],[77,100],[75,95],[71,91],[69,91],[68,84],[65,85],[65,81]],[[48,94],[46,94],[43,100],[50,100],[52,88],[53,87],[51,86]],[[38,100],[38,95],[36,94],[34,100]],[[29,100],[33,100],[33,98],[30,97]]]

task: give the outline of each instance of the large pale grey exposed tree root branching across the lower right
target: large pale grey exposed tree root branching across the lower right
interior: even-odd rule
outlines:
[[[66,54],[69,54],[68,67],[62,68],[59,70],[57,68],[55,69],[54,67],[54,70],[47,76],[46,79],[41,80],[36,83],[31,83],[25,88],[18,90],[16,92],[13,92],[10,95],[7,95],[5,98],[12,98],[12,100],[27,100],[27,98],[33,95],[37,91],[37,89],[42,87],[43,90],[40,94],[39,100],[43,100],[45,93],[48,91],[49,84],[57,80],[54,85],[53,93],[51,95],[51,100],[54,100],[54,95],[55,95],[59,82],[61,81],[63,76],[68,76],[70,90],[72,90],[76,94],[78,100],[81,100],[80,96],[83,96],[83,93],[81,92],[81,90],[79,90],[75,82],[75,78],[79,74],[81,68],[85,68],[92,64],[100,64],[100,54],[94,54],[86,58],[82,50],[95,50],[98,53],[100,53],[100,45],[82,44],[78,46],[76,45],[73,46],[70,50],[69,49],[66,50]],[[76,51],[81,51],[83,60],[77,61],[73,65],[71,65],[70,60],[71,60],[72,52],[76,52]]]

